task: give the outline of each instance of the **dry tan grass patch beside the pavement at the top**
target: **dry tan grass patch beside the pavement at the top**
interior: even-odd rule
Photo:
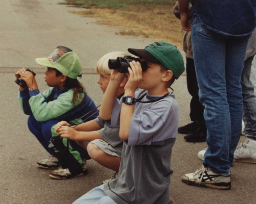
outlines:
[[[73,12],[86,17],[100,17],[98,24],[116,26],[117,35],[132,35],[168,41],[182,47],[183,30],[173,14],[173,6],[136,6],[129,10],[90,8]]]

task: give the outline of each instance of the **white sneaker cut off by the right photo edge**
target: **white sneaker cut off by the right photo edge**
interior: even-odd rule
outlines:
[[[256,164],[256,140],[246,137],[245,142],[240,143],[234,151],[234,161]]]

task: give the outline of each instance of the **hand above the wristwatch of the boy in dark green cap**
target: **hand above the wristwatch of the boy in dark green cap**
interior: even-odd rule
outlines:
[[[135,92],[139,83],[142,80],[142,68],[139,62],[130,62],[129,70],[129,80],[124,86],[125,91]]]

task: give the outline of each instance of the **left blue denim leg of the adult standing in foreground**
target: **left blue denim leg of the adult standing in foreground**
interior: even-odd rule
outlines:
[[[208,152],[204,163],[218,173],[229,175],[228,141],[231,127],[226,96],[225,39],[202,27],[199,18],[195,17],[193,54],[207,127]]]

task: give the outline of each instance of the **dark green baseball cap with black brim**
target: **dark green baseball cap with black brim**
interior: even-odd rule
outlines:
[[[144,49],[129,48],[128,51],[145,60],[162,64],[166,69],[173,71],[175,79],[185,70],[179,49],[168,42],[154,42]]]

